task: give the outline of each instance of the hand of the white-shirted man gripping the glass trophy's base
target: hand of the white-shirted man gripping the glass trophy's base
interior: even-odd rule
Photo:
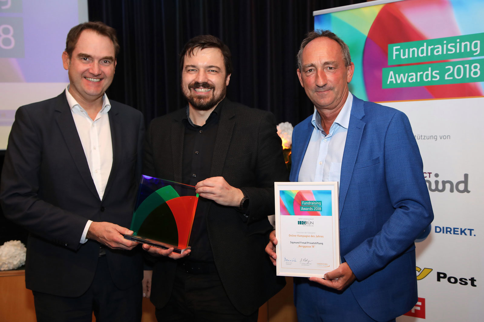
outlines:
[[[123,234],[133,234],[133,231],[111,222],[93,221],[86,238],[94,239],[112,249],[134,249],[138,243],[124,239]]]

